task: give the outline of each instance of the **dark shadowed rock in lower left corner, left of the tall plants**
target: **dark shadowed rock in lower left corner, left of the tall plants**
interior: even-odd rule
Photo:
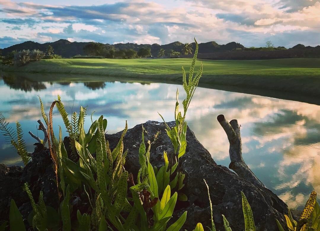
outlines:
[[[38,202],[40,191],[44,194],[44,202],[57,208],[57,190],[55,186],[55,174],[52,168],[52,159],[49,150],[40,147],[35,148],[32,161],[26,167],[6,167],[0,164],[0,217],[1,220],[9,220],[9,208],[13,199],[23,218],[27,219],[32,207],[26,192],[22,187],[28,183],[33,197]]]

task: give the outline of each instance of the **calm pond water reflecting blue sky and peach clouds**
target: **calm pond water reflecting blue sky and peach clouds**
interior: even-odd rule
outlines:
[[[36,121],[42,119],[38,96],[46,110],[59,94],[68,112],[88,106],[86,126],[104,115],[108,133],[129,128],[147,120],[174,119],[175,92],[182,86],[122,82],[31,82],[12,75],[0,78],[0,111],[11,125],[19,120],[29,151],[35,142],[28,131],[36,133]],[[54,111],[55,129],[63,125]],[[243,157],[258,178],[289,207],[304,204],[312,189],[320,192],[320,106],[279,100],[244,93],[198,88],[190,105],[187,121],[197,139],[213,159],[228,166],[228,139],[216,117],[241,124]],[[57,131],[56,131],[57,132]],[[43,134],[39,133],[40,136]],[[0,163],[22,165],[14,149],[0,137]]]

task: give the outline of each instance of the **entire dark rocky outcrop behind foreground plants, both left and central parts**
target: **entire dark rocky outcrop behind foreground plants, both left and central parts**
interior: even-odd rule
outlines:
[[[173,123],[169,123],[170,125],[173,126]],[[151,147],[150,157],[151,163],[159,168],[164,163],[163,152],[168,151],[169,154],[172,152],[171,141],[164,130],[165,125],[148,121],[143,126],[149,134],[149,138],[145,135],[145,141],[152,139],[157,131],[161,131],[155,144]],[[141,124],[136,125],[129,129],[124,137],[124,148],[129,149],[125,168],[134,175],[140,168],[138,152],[141,131]],[[111,148],[116,146],[120,136],[121,132],[106,135]],[[207,181],[210,188],[213,218],[217,230],[224,230],[221,214],[227,217],[232,230],[244,230],[240,191],[244,192],[251,205],[257,230],[277,230],[275,218],[284,223],[283,214],[287,213],[287,206],[274,193],[265,187],[255,186],[238,177],[225,166],[217,165],[190,129],[187,130],[187,141],[187,151],[180,159],[180,168],[186,174],[185,187],[182,190],[188,196],[188,201],[178,202],[177,210],[174,212],[175,217],[178,217],[183,211],[188,211],[187,221],[183,228],[192,230],[198,222],[204,226],[210,224],[209,200],[203,179]],[[1,219],[8,219],[11,198],[16,201],[23,217],[27,218],[31,206],[26,193],[22,191],[22,185],[25,182],[30,185],[36,201],[42,190],[46,205],[58,207],[55,176],[48,150],[36,147],[32,157],[32,162],[23,169],[0,165]]]

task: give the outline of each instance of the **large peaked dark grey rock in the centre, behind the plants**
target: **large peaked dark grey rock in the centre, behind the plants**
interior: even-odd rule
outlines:
[[[168,125],[174,126],[174,123],[171,122]],[[148,139],[152,141],[152,136],[157,131],[161,131],[156,143],[151,147],[150,154],[151,163],[159,168],[164,164],[163,152],[172,152],[172,144],[166,134],[165,124],[148,121],[143,124],[143,127],[149,134],[149,137],[145,135],[145,141]],[[116,146],[121,133],[106,135],[111,148]],[[132,173],[137,173],[140,168],[138,153],[141,139],[141,124],[129,129],[124,137],[124,148],[129,149],[125,169]],[[209,185],[213,218],[217,230],[224,230],[221,214],[226,216],[232,230],[244,230],[241,191],[244,192],[251,205],[257,230],[278,230],[276,218],[284,224],[283,214],[288,211],[287,205],[271,190],[265,187],[256,187],[247,180],[239,178],[227,167],[217,165],[189,128],[187,130],[187,144],[187,151],[180,159],[180,166],[186,174],[182,192],[188,196],[188,203],[178,202],[179,210],[175,212],[180,216],[183,211],[188,211],[187,221],[183,228],[192,230],[198,222],[204,226],[211,226],[209,199],[203,179]]]

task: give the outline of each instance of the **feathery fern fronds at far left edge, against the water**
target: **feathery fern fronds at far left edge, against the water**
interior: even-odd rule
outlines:
[[[4,136],[4,139],[8,144],[17,149],[23,164],[27,165],[30,160],[30,156],[27,151],[26,142],[23,139],[21,124],[18,121],[16,122],[16,131],[8,125],[9,122],[6,121],[4,115],[0,112],[0,133]]]

